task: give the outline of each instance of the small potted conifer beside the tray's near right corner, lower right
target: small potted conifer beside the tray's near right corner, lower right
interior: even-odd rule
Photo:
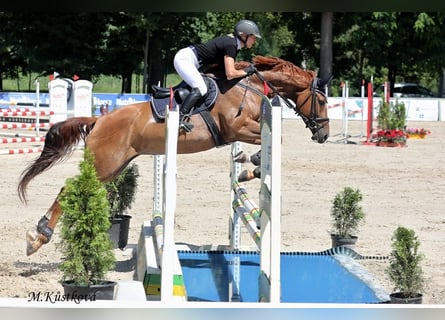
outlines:
[[[420,304],[424,288],[421,266],[423,254],[414,230],[398,227],[392,236],[391,254],[386,272],[394,284],[391,303]]]

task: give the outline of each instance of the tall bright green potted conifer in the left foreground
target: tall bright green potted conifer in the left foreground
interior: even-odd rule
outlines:
[[[59,198],[62,286],[71,299],[111,300],[116,282],[105,279],[115,266],[108,233],[110,205],[96,175],[94,156],[84,150],[79,175],[67,179]]]

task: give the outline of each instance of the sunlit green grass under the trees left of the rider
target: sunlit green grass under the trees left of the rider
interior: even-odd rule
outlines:
[[[35,92],[37,74],[22,76],[19,79],[3,79],[4,92]],[[49,77],[41,76],[37,78],[40,92],[48,92]],[[167,76],[167,86],[174,86],[181,81],[176,73]],[[118,77],[101,76],[93,82],[93,92],[95,93],[120,93],[122,80]],[[142,76],[133,75],[131,93],[143,93]]]

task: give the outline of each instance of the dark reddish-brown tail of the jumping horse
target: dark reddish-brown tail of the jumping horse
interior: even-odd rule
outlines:
[[[96,120],[94,117],[73,117],[51,126],[46,134],[40,156],[20,176],[17,191],[22,202],[27,202],[26,189],[29,182],[37,175],[71,156],[78,142],[85,141]]]

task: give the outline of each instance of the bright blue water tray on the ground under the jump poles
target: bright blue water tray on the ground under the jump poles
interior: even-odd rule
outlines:
[[[233,301],[235,297],[235,301],[258,302],[258,252],[184,250],[178,256],[188,301]],[[384,302],[331,255],[284,252],[280,256],[281,302]]]

